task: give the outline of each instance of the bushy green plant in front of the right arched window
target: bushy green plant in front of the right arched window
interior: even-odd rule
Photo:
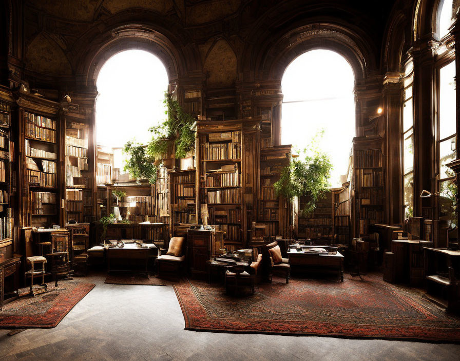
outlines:
[[[318,147],[324,131],[313,137],[309,147],[303,150],[304,159],[293,158],[286,166],[278,182],[274,184],[278,195],[292,200],[294,197],[307,196],[304,212],[312,212],[318,199],[328,192],[330,187],[332,164],[329,155]]]

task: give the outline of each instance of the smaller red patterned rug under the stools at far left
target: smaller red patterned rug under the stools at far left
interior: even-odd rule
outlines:
[[[49,283],[49,292],[35,297],[25,295],[4,305],[0,311],[0,329],[56,327],[94,286],[69,280],[59,282],[57,287],[54,282]]]

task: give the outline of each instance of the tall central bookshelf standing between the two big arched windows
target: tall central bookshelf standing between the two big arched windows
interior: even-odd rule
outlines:
[[[226,247],[243,245],[247,225],[255,220],[258,124],[259,119],[251,118],[197,122],[197,221],[201,223],[207,211],[208,224],[225,232]]]

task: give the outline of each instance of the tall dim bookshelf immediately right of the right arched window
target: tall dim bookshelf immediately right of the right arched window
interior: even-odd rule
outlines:
[[[370,225],[385,223],[384,142],[379,136],[353,139],[354,234],[369,235]]]

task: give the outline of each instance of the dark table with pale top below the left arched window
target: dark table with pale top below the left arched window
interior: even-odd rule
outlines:
[[[135,243],[129,243],[125,244],[123,248],[111,247],[107,249],[107,273],[110,273],[110,271],[123,271],[145,272],[148,274],[148,260],[156,255],[158,255],[158,250],[155,245],[151,248],[139,248]],[[118,267],[123,265],[123,268],[113,269],[111,267],[112,263],[118,264]],[[129,269],[126,266],[138,267]]]

